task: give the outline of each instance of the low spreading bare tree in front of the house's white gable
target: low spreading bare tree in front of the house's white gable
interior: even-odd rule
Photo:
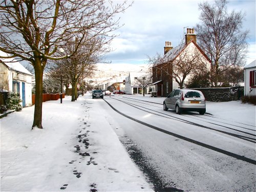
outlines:
[[[181,43],[164,56],[157,53],[152,58],[148,57],[148,63],[151,63],[153,73],[158,73],[162,78],[168,76],[171,81],[179,84],[180,89],[183,89],[184,82],[189,76],[208,70],[207,58],[193,42],[187,45]]]

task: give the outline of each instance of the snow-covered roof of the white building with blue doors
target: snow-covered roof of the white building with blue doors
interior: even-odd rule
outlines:
[[[18,62],[16,59],[14,58],[1,58],[1,56],[3,57],[7,57],[8,54],[0,51],[0,60],[3,61],[5,63],[5,65],[7,65],[8,68],[14,70],[14,71],[18,71],[18,72],[22,72],[28,75],[32,75],[22,64],[20,64],[20,62]]]

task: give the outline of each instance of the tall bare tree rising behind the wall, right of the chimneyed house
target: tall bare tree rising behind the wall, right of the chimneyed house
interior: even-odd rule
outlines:
[[[210,5],[200,3],[201,23],[197,24],[198,44],[211,59],[211,85],[218,86],[219,75],[232,66],[243,66],[247,53],[249,31],[243,31],[245,14],[228,13],[226,0]]]

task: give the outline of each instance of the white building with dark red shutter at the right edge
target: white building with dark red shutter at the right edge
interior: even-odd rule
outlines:
[[[244,95],[256,95],[256,60],[244,67]]]

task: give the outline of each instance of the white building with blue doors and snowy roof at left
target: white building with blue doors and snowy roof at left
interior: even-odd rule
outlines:
[[[0,51],[0,56],[7,56]],[[0,90],[19,93],[22,106],[32,105],[32,74],[13,58],[0,58]]]

